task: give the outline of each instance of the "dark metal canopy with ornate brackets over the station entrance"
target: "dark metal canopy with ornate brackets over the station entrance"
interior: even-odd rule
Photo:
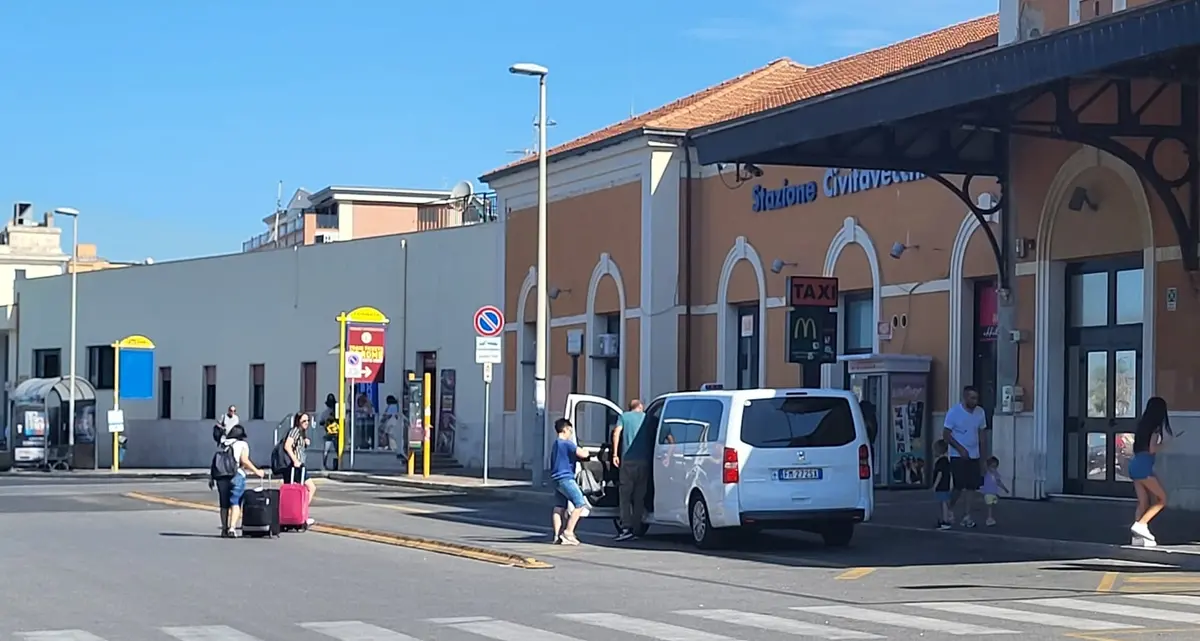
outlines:
[[[1152,82],[1148,96],[1133,80]],[[1096,146],[1130,164],[1164,202],[1188,270],[1200,269],[1200,0],[1168,0],[1126,10],[1030,41],[991,48],[852,86],[762,114],[695,130],[703,164],[844,167],[923,172],[954,191],[983,222],[970,181],[996,176],[1007,191],[1008,136],[1037,136]],[[1082,100],[1072,89],[1087,88]],[[1085,109],[1115,96],[1104,119]],[[1134,96],[1138,96],[1136,98]],[[1054,118],[1021,119],[1034,101],[1054,101]],[[1172,122],[1146,110],[1172,101]],[[1176,107],[1177,106],[1177,107]],[[1141,139],[1141,144],[1136,140]],[[1135,146],[1130,146],[1130,142]],[[1182,149],[1188,167],[1164,176],[1151,158],[1162,143]],[[964,176],[958,184],[946,175]],[[1181,200],[1177,190],[1184,191]],[[1007,246],[984,224],[1006,280]],[[1001,283],[1002,287],[1004,283]]]

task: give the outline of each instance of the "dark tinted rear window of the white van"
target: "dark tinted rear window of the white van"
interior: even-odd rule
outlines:
[[[836,448],[853,441],[854,414],[845,399],[756,399],[742,409],[742,442],[755,448]]]

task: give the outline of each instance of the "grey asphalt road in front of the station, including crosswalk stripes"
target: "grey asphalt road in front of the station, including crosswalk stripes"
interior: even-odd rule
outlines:
[[[0,484],[0,640],[1170,640],[1200,633],[1200,574],[1044,558],[984,539],[864,527],[847,550],[764,535],[544,543],[545,509],[325,483],[320,521],[517,550],[520,570],[317,533],[226,540],[199,483]]]

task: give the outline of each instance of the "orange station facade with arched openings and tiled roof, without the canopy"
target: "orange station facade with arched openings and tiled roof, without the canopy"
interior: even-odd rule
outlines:
[[[750,128],[758,114],[1145,4],[1102,2],[1093,16],[1093,2],[1006,0],[997,16],[828,65],[776,61],[551,149],[551,414],[569,391],[624,405],[704,383],[840,388],[851,384],[852,354],[926,357],[930,425],[941,426],[964,385],[979,388],[994,414],[990,449],[1016,496],[1132,496],[1124,467],[1145,401],[1165,397],[1177,427],[1200,424],[1200,363],[1181,349],[1200,289],[1162,185],[1109,151],[1049,136],[1013,136],[1007,184],[978,178],[961,196],[941,184],[959,181],[952,172],[704,157],[695,140],[703,149],[706,131],[722,127],[763,140]],[[1121,110],[1120,92],[1097,94],[1098,84],[1070,89],[1081,121]],[[1180,85],[1160,84],[1130,84],[1146,122],[1187,110]],[[1026,121],[1054,115],[1045,96],[1020,109]],[[772,157],[763,144],[755,158]],[[1129,142],[1135,155],[1147,144]],[[1194,172],[1187,146],[1158,154],[1158,172]],[[505,411],[528,425],[535,164],[484,180],[508,221]],[[1189,198],[1187,186],[1166,188]],[[820,372],[787,355],[788,276],[838,278],[838,363]],[[596,438],[604,421],[590,423],[581,433]],[[1159,471],[1174,505],[1200,509],[1200,448],[1183,441]]]

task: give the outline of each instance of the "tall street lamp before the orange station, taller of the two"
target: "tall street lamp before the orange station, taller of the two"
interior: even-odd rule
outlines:
[[[509,73],[538,78],[538,324],[533,366],[534,421],[538,425],[538,462],[533,467],[533,484],[544,483],[546,467],[546,343],[550,325],[550,298],[546,292],[546,74],[550,70],[533,62],[518,62]]]

